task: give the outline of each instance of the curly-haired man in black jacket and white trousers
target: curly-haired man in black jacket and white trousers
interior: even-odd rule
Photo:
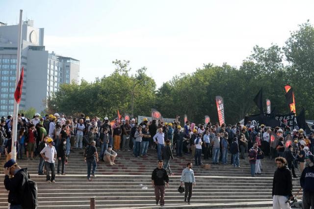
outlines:
[[[277,170],[273,179],[273,208],[289,209],[287,197],[293,199],[292,195],[292,177],[290,170],[286,167],[287,161],[284,157],[276,157]]]

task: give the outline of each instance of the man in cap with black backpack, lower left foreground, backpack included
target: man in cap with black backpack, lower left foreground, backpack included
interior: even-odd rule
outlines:
[[[29,179],[27,168],[18,166],[14,159],[4,164],[4,186],[9,191],[10,209],[37,207],[37,184]]]

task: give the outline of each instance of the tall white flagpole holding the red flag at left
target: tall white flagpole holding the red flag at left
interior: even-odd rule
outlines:
[[[17,63],[16,63],[16,81],[15,89],[18,86],[20,78],[20,68],[21,68],[21,44],[22,44],[22,14],[23,10],[20,9],[20,22],[19,22],[19,34],[18,34],[18,54],[17,54]],[[18,128],[18,111],[19,104],[14,100],[14,109],[13,109],[13,125],[12,125],[12,146],[11,146],[11,159],[16,160],[16,146],[17,146],[17,128]]]

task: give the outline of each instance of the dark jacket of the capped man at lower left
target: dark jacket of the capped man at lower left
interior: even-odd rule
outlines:
[[[20,169],[13,178],[9,178],[8,175],[4,177],[4,186],[5,189],[9,191],[8,202],[11,203],[11,205],[20,205],[23,201],[22,196],[24,191],[22,191],[22,188],[26,183],[22,174],[23,172],[26,173],[29,178],[27,168]]]

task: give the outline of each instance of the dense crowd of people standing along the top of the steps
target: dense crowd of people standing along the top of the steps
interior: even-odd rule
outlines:
[[[12,116],[2,117],[0,122],[0,153],[4,151],[8,160],[12,155]],[[98,117],[90,119],[84,114],[80,118],[73,118],[66,117],[64,113],[45,117],[36,113],[32,119],[19,114],[16,131],[17,158],[25,159],[26,154],[26,160],[33,160],[34,156],[39,155],[38,175],[46,173],[49,183],[55,183],[55,160],[58,161],[57,175],[65,175],[67,159],[74,149],[84,148],[88,181],[95,177],[99,160],[114,165],[120,151],[130,151],[134,157],[143,157],[147,155],[148,149],[156,149],[157,159],[162,162],[167,175],[172,175],[170,160],[174,156],[193,157],[195,166],[202,166],[203,160],[211,158],[212,164],[231,164],[235,167],[240,167],[240,160],[247,157],[252,177],[262,174],[262,159],[265,156],[272,159],[285,157],[293,178],[298,178],[295,168],[299,167],[302,173],[306,158],[314,152],[313,133],[306,135],[302,129],[291,131],[288,126],[255,127],[251,122],[245,125],[237,123],[219,126],[218,123],[196,125],[186,121],[181,127],[179,121],[163,123],[144,118],[138,123],[136,118],[130,121],[116,118],[110,122],[108,117],[103,120]],[[287,141],[293,143],[287,144]],[[231,155],[230,162],[228,155]],[[195,180],[189,183],[195,183]],[[187,184],[185,187],[189,192],[192,186]],[[156,195],[162,192],[164,191],[159,188]],[[189,202],[190,196],[187,194],[185,201]],[[161,205],[164,204],[161,200],[158,201]]]

